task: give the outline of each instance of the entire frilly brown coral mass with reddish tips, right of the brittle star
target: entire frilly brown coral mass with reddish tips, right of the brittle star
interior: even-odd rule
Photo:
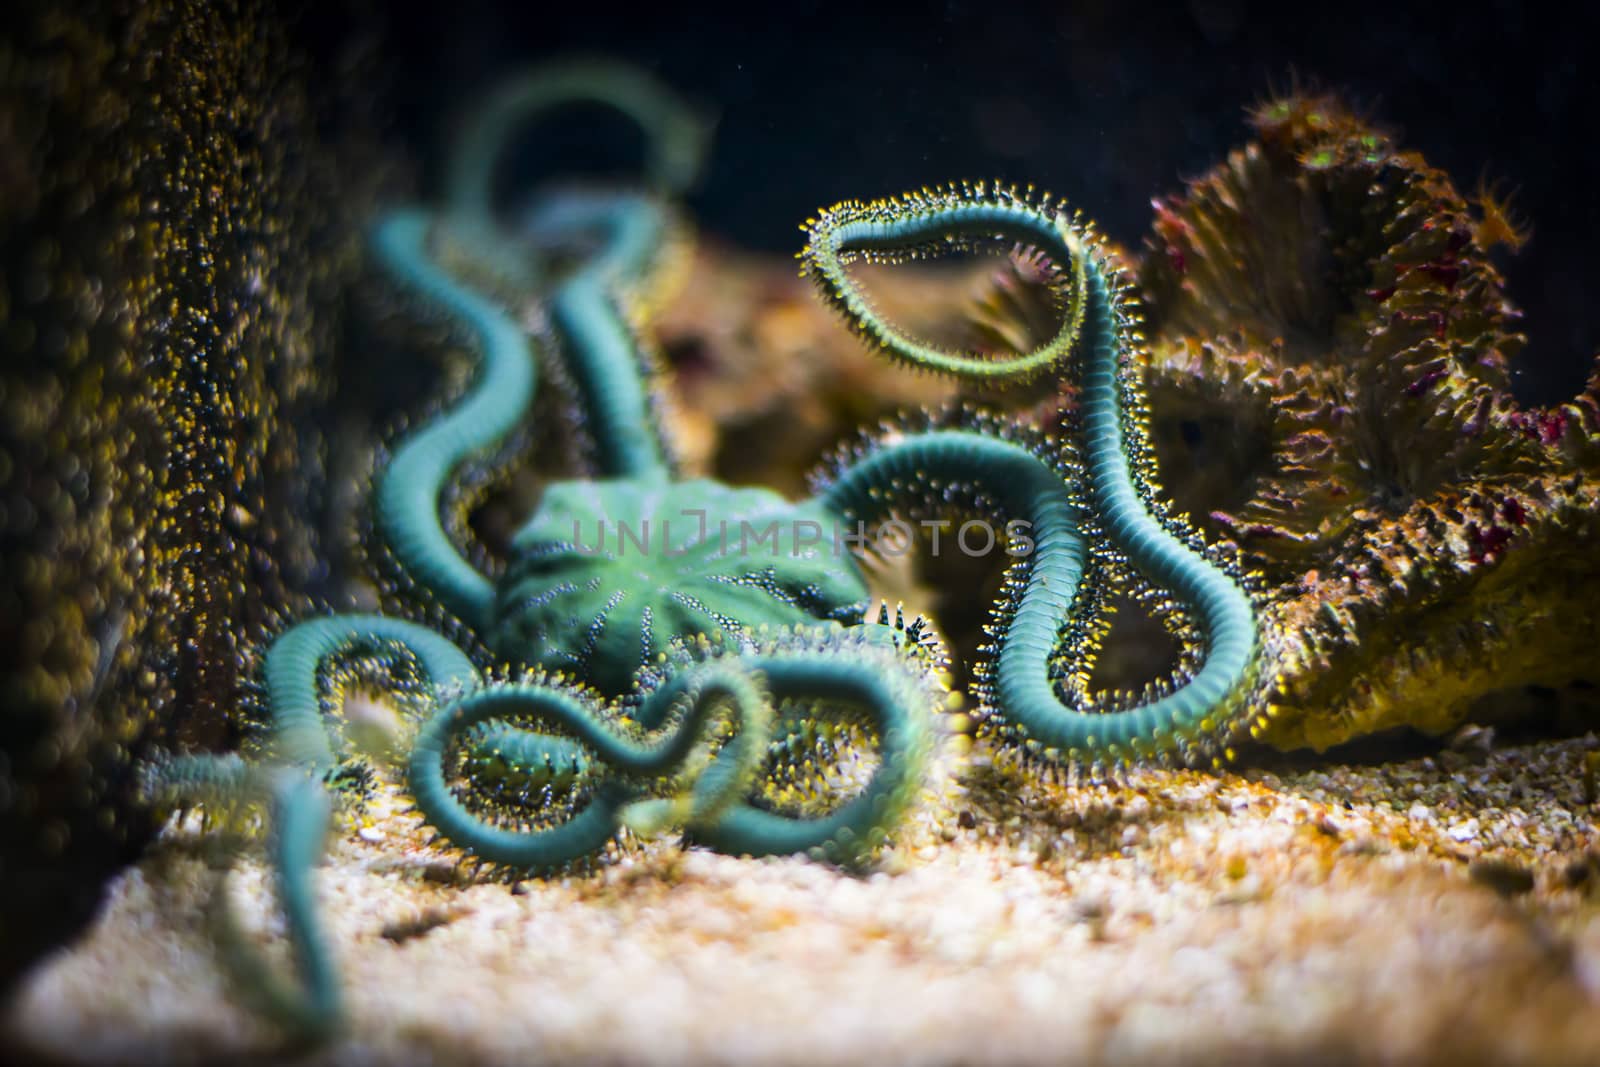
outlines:
[[[1331,96],[1253,125],[1157,203],[1141,283],[1163,461],[1195,450],[1163,469],[1237,486],[1205,510],[1272,590],[1254,733],[1438,733],[1493,691],[1586,680],[1600,379],[1515,402],[1520,315],[1488,256],[1506,227],[1443,171]]]

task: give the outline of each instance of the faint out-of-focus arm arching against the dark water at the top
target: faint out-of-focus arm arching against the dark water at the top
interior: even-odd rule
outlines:
[[[710,123],[650,75],[605,59],[542,66],[502,85],[466,126],[446,179],[453,211],[488,214],[494,166],[517,126],[571,104],[605,104],[646,136],[651,181],[680,194],[699,174]]]

